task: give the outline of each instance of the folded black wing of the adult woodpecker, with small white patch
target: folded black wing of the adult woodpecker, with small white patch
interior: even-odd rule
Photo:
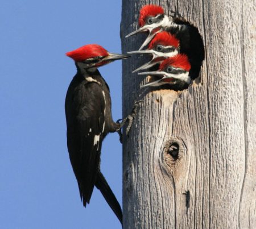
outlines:
[[[97,82],[75,76],[65,101],[68,151],[84,206],[90,197],[100,166],[105,99]]]

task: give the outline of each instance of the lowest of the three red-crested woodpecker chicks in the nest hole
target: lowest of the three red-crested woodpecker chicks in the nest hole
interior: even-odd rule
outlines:
[[[186,55],[178,54],[174,57],[169,57],[160,64],[158,71],[139,73],[161,77],[159,80],[150,82],[142,87],[160,86],[164,84],[171,86],[179,85],[179,88],[181,85],[188,86],[191,82],[191,77],[189,76],[190,69],[191,65]]]

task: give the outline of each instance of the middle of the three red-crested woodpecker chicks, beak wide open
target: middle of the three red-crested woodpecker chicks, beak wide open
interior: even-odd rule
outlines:
[[[140,66],[135,69],[134,72],[139,70],[144,70],[160,64],[163,60],[168,57],[175,56],[179,53],[179,40],[175,38],[174,35],[171,35],[167,31],[159,32],[155,37],[150,41],[148,49],[141,51],[131,51],[128,54],[150,54],[152,55],[152,60],[148,63]]]

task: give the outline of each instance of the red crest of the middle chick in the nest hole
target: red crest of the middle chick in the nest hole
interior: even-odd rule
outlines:
[[[154,39],[152,39],[150,44],[148,45],[148,48],[152,49],[158,44],[162,44],[164,46],[173,46],[177,48],[179,47],[179,40],[176,39],[175,36],[171,35],[169,32],[163,31],[155,35]]]

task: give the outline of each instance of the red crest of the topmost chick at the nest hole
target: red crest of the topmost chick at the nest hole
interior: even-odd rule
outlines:
[[[158,14],[164,14],[164,10],[161,6],[146,5],[139,11],[139,26],[142,27],[145,24],[145,20],[148,16],[156,16]]]

